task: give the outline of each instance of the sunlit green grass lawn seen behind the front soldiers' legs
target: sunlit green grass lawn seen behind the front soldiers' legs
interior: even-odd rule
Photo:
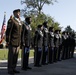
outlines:
[[[30,50],[30,57],[34,56],[34,50]],[[6,60],[8,58],[8,49],[0,50],[0,60]],[[21,50],[19,50],[19,58],[21,58]]]

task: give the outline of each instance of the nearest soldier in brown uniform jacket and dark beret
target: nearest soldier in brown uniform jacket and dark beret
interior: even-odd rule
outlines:
[[[19,73],[16,70],[20,39],[21,39],[21,29],[22,23],[20,20],[20,9],[13,11],[14,17],[8,20],[7,30],[6,30],[6,43],[8,44],[8,73],[14,75],[14,73]]]

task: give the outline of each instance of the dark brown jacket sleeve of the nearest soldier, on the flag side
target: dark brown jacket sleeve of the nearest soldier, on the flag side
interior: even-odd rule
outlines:
[[[12,30],[12,21],[8,20],[7,22],[7,29],[6,29],[6,42],[10,41],[10,34],[11,34],[11,30]]]

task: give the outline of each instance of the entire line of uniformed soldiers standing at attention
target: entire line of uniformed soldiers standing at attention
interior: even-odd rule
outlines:
[[[31,44],[31,17],[26,17],[22,22],[20,9],[13,11],[8,20],[6,29],[6,43],[8,45],[8,73],[14,75],[20,73],[16,70],[19,46],[22,46],[21,69],[32,69],[29,67],[29,52]],[[44,22],[37,26],[34,36],[34,66],[39,67],[58,60],[68,59],[74,55],[74,35],[48,28]]]

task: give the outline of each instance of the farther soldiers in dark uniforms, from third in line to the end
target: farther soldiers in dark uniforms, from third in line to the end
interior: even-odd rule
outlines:
[[[75,48],[74,34],[54,30],[47,22],[38,25],[34,36],[34,66],[46,65],[73,58]]]

